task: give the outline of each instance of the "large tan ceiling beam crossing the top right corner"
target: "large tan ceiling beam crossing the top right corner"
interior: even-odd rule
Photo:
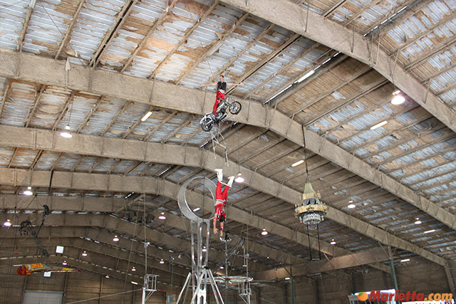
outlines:
[[[394,64],[394,60],[385,51],[377,50],[376,46],[362,34],[354,33],[336,21],[326,19],[314,11],[308,11],[287,0],[249,0],[247,2],[222,0],[222,2],[283,26],[289,31],[299,33],[323,46],[346,53],[358,61],[372,66],[391,82],[394,78],[394,83],[400,90],[456,132],[456,121],[452,119],[450,108],[443,104],[437,96],[427,93],[427,88],[402,67],[395,66],[392,73],[390,66]],[[309,18],[309,26],[303,22],[303,16]]]

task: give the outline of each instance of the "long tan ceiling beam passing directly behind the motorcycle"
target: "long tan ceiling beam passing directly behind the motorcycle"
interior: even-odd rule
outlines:
[[[19,61],[19,57],[25,57],[27,60]],[[25,78],[28,81],[36,81],[38,83],[45,82],[48,85],[51,83],[53,85],[65,84],[63,81],[63,75],[65,73],[64,62],[58,63],[57,61],[40,58],[38,56],[28,56],[24,53],[17,54],[7,51],[0,53],[0,62],[3,63],[0,68],[0,73],[6,77]],[[9,64],[6,65],[6,63]],[[19,70],[27,72],[26,76],[23,74],[20,74],[19,76],[15,75],[15,71],[18,70],[19,65],[21,65],[21,68]],[[46,73],[47,70],[60,70],[61,72]],[[120,83],[123,83],[124,81],[124,75],[97,70],[97,77],[100,78],[99,80],[101,83],[103,83],[103,85],[91,85],[92,88],[90,88],[88,83],[75,82],[76,79],[81,78],[81,73],[87,73],[86,75],[93,73],[90,72],[90,70],[90,68],[81,67],[80,70],[78,70],[78,73],[74,75],[74,77],[73,73],[75,72],[73,70],[68,71],[68,73],[71,75],[71,77],[68,78],[68,85],[84,91],[97,92],[101,95],[109,94],[118,98],[127,98],[130,100],[138,101],[140,103],[148,103],[149,105],[151,104],[150,89],[133,89],[138,87],[149,88],[150,80],[128,78],[128,81],[131,85],[128,87],[124,86],[121,90],[119,90]],[[108,78],[108,81],[103,81],[104,78]],[[158,107],[175,108],[184,112],[190,112],[199,115],[204,114],[204,92],[201,90],[190,90],[167,83],[155,83],[154,95],[159,98],[152,99],[152,104]],[[210,96],[214,96],[214,94],[210,94]],[[186,102],[176,104],[176,98],[181,97],[182,100],[185,99]],[[259,105],[259,103],[251,103],[248,100],[242,100],[242,103],[248,105],[251,110],[249,112],[244,112],[242,115],[237,115],[236,120],[238,122],[269,128],[277,134],[291,140],[291,142],[296,143],[296,145],[299,145],[301,147],[304,146],[303,127],[298,122],[292,121],[289,119],[289,117],[285,117],[283,114],[278,111],[274,111],[272,108],[264,109],[261,105]],[[210,106],[211,105],[207,105],[207,108],[210,108]],[[269,119],[269,117],[274,117],[274,119]],[[40,130],[40,132],[42,131]],[[306,138],[308,139],[307,148],[310,151],[318,152],[318,154],[330,160],[331,162],[334,162],[335,164],[338,164],[339,166],[358,174],[360,177],[373,182],[373,184],[377,184],[380,187],[383,187],[383,189],[389,192],[395,193],[398,197],[404,199],[405,201],[408,201],[410,204],[418,206],[418,208],[422,210],[426,210],[430,216],[433,216],[435,219],[442,221],[442,223],[447,224],[447,226],[455,226],[456,219],[452,219],[453,215],[450,214],[449,211],[443,209],[440,206],[437,206],[432,201],[425,199],[425,197],[415,194],[412,189],[400,184],[400,182],[395,181],[395,179],[389,177],[387,174],[378,172],[378,170],[371,166],[371,164],[367,164],[361,159],[353,157],[345,150],[337,147],[333,143],[329,142],[319,135],[316,135],[313,132],[307,131]],[[0,140],[3,139],[3,137],[0,137]],[[16,142],[14,146],[16,147],[19,145],[19,142]],[[170,163],[173,162],[170,161]]]

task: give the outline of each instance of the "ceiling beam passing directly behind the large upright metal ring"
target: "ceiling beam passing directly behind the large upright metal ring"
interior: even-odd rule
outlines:
[[[212,155],[210,157],[213,159]],[[0,169],[0,184],[26,184],[27,186],[31,185],[31,187],[46,188],[49,186],[51,172],[36,171],[31,174],[28,170],[7,170],[9,171],[6,171],[6,169]],[[261,184],[261,181],[259,181],[259,183]],[[272,187],[270,184],[267,185]],[[51,187],[159,194],[175,200],[177,199],[177,193],[180,190],[180,185],[168,182],[164,179],[152,177],[123,177],[118,175],[109,176],[106,174],[84,174],[71,172],[54,172]],[[274,189],[274,191],[276,191],[276,189]],[[293,190],[290,191],[294,192]],[[299,192],[294,193],[299,195]],[[281,196],[284,196],[284,192],[282,192]],[[197,194],[196,192],[190,192],[187,194],[187,197],[194,201],[203,201],[203,196],[201,194]],[[201,208],[205,211],[212,212],[214,209],[213,203],[208,199],[204,200],[204,202],[205,204],[204,206],[201,206]],[[268,231],[271,231],[271,233],[278,234],[289,240],[294,240],[296,243],[300,243],[301,245],[309,246],[308,236],[299,231],[294,231],[286,226],[276,224],[273,221],[262,219],[261,217],[250,214],[247,211],[237,209],[234,206],[227,206],[227,214],[229,214],[232,219],[236,219],[239,223],[254,226],[257,229],[266,228]],[[143,234],[138,235],[142,236]],[[311,237],[311,247],[318,249],[318,241],[313,237]],[[323,253],[327,253],[331,256],[342,256],[349,253],[349,251],[345,249],[332,246],[324,241],[320,241],[320,249]],[[273,256],[271,255],[271,257]]]

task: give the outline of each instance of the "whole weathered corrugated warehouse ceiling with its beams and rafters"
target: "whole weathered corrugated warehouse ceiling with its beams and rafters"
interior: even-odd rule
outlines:
[[[443,0],[0,0],[1,221],[38,223],[48,204],[40,236],[60,238],[75,266],[96,273],[120,268],[105,265],[109,248],[146,239],[168,282],[158,261],[190,248],[177,192],[223,167],[245,177],[229,192],[226,226],[233,244],[247,238],[254,271],[305,263],[309,246],[314,258],[318,248],[331,258],[392,246],[398,265],[447,267],[456,258],[455,9]],[[220,74],[244,85],[228,90],[243,108],[217,145],[199,127],[214,88],[199,85]],[[396,88],[401,105],[390,103]],[[66,125],[72,138],[59,136]],[[294,217],[306,166],[330,206],[319,231]],[[24,261],[36,253],[28,246]],[[214,236],[212,247],[217,265],[224,243]],[[80,263],[84,248],[102,262]],[[142,254],[134,250],[136,263]],[[242,273],[242,259],[232,264]],[[370,267],[388,271],[348,272]]]

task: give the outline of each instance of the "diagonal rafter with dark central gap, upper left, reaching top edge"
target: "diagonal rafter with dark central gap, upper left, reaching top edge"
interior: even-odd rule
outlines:
[[[138,0],[129,0],[126,1],[125,4],[122,6],[122,9],[117,14],[117,18],[113,22],[113,26],[105,33],[103,40],[98,45],[97,50],[93,54],[93,57],[90,59],[88,66],[96,66],[100,62],[101,56],[103,53],[108,49],[108,46],[113,39],[117,35],[120,28],[122,28],[123,23],[127,20],[128,16],[130,16],[131,12],[133,11],[133,7],[138,2]]]

